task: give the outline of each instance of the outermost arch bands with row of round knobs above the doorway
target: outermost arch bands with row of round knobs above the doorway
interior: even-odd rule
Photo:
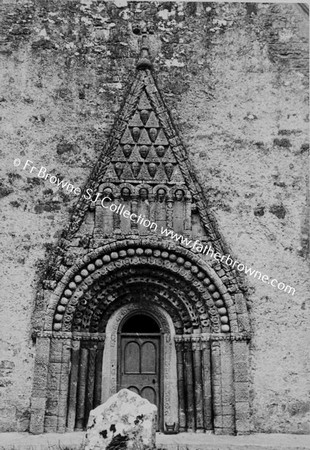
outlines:
[[[59,281],[45,316],[44,329],[60,331],[63,318],[72,314],[98,280],[126,268],[149,266],[188,283],[192,298],[203,298],[213,332],[249,334],[246,303],[240,292],[231,295],[207,261],[171,242],[118,241],[85,255]],[[195,297],[196,296],[196,297]],[[237,303],[237,308],[236,308]],[[65,331],[70,328],[65,327]]]

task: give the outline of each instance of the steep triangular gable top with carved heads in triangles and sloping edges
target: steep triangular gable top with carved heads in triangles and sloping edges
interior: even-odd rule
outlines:
[[[105,149],[99,157],[76,205],[65,234],[70,239],[79,230],[91,200],[102,183],[114,182],[184,184],[195,203],[206,238],[215,251],[225,253],[223,239],[195,173],[186,149],[173,126],[170,114],[144,57],[124,106],[115,121]],[[87,197],[87,198],[85,198]]]

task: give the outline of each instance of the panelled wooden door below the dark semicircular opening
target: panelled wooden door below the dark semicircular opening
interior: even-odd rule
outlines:
[[[120,389],[126,388],[157,406],[160,423],[160,336],[121,334]]]

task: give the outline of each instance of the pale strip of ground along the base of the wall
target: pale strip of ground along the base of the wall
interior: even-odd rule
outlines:
[[[85,433],[0,433],[0,450],[83,450]],[[205,433],[157,433],[160,450],[310,450],[310,436],[297,434],[252,434],[215,436]]]

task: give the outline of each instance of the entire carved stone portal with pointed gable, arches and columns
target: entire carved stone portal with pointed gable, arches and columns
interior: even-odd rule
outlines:
[[[43,281],[30,431],[83,429],[126,387],[157,405],[160,431],[248,432],[246,300],[145,36],[136,69]]]

